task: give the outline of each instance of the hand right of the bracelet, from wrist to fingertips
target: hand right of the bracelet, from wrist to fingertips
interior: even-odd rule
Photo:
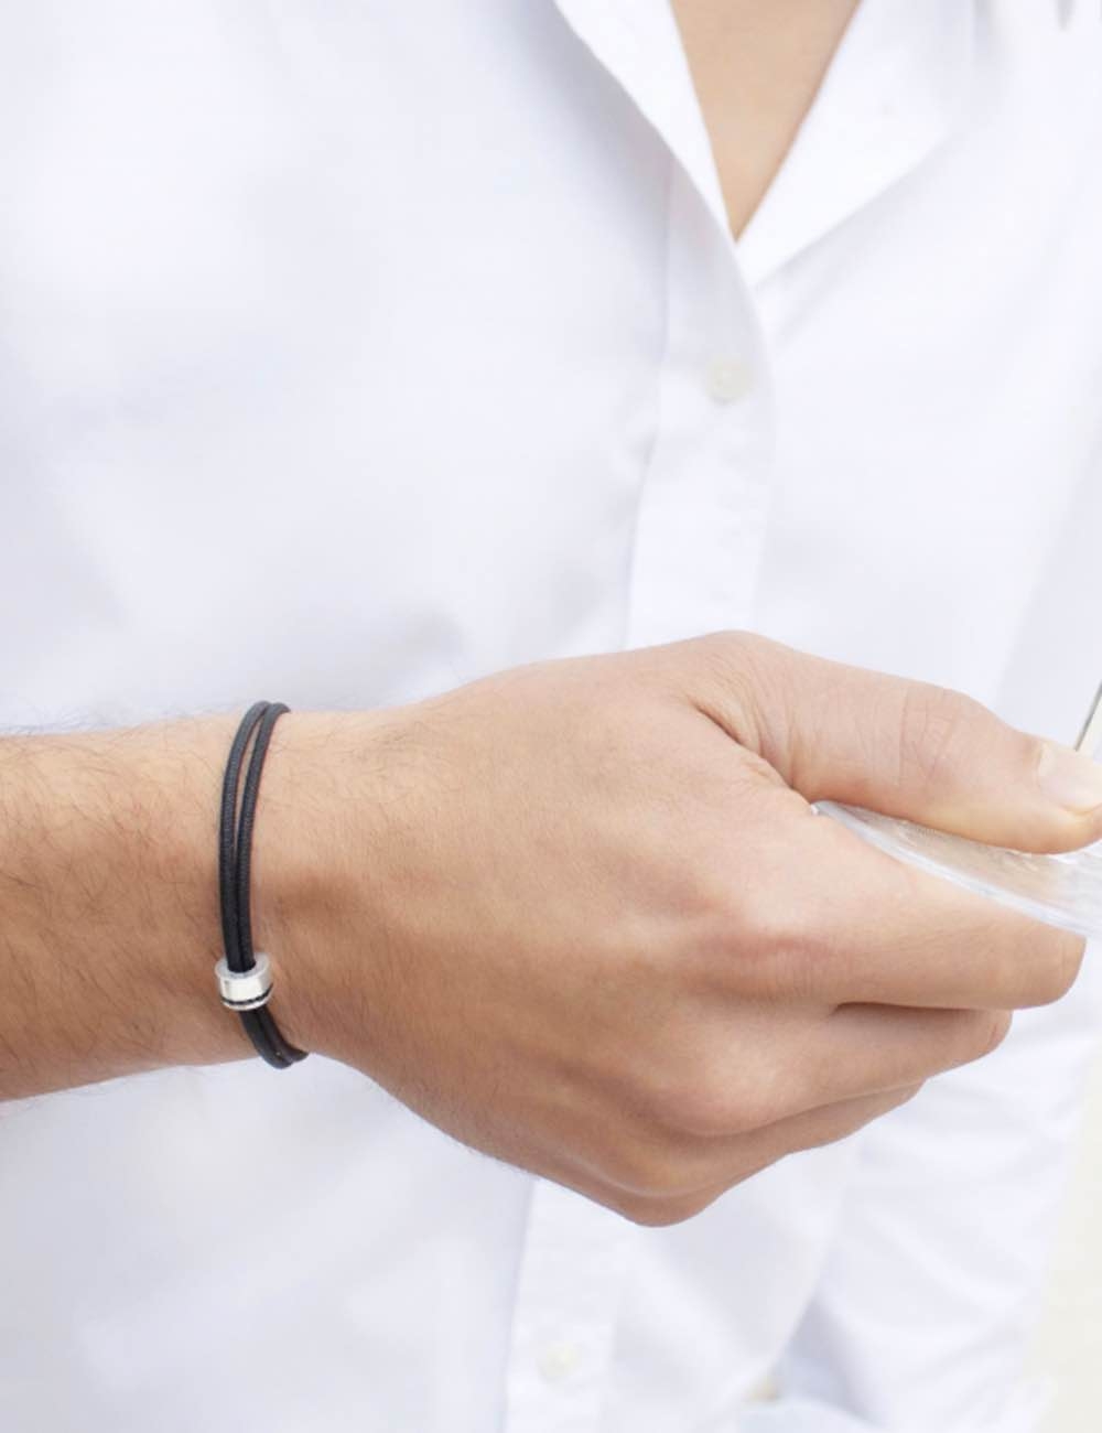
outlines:
[[[738,633],[291,714],[257,828],[277,1015],[459,1139],[684,1219],[995,1049],[1082,959],[808,802],[1068,850],[1098,774]]]

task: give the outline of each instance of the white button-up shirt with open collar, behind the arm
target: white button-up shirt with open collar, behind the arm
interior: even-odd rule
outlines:
[[[866,0],[735,245],[663,0],[4,6],[0,725],[745,626],[1073,738],[1093,9]],[[0,1427],[1032,1429],[1093,984],[668,1230],[320,1058],[9,1106]]]

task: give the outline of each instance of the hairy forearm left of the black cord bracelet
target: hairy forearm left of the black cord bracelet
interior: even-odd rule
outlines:
[[[251,1053],[212,974],[236,721],[0,739],[0,1098]]]

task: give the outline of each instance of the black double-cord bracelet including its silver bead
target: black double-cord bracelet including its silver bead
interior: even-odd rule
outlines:
[[[265,1009],[272,995],[272,966],[264,952],[252,949],[249,864],[261,770],[275,724],[288,709],[282,702],[255,702],[245,712],[229,748],[218,828],[218,894],[225,946],[225,956],[215,966],[218,993],[222,1005],[239,1015],[257,1053],[278,1070],[304,1060],[307,1052],[295,1049],[282,1037],[271,1012]],[[245,749],[254,732],[257,739],[245,772],[238,813],[238,781]]]

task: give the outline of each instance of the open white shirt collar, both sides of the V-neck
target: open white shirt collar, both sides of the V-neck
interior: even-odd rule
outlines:
[[[729,236],[719,178],[669,0],[556,0],[662,136]],[[863,0],[738,252],[761,282],[921,163],[972,73],[972,0]],[[734,242],[734,241],[732,241]]]

